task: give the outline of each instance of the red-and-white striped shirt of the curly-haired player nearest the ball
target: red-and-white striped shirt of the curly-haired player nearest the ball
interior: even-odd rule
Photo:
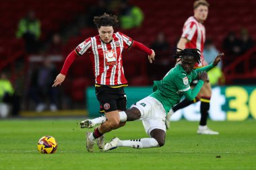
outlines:
[[[100,36],[94,36],[79,44],[75,51],[79,55],[90,53],[96,84],[123,85],[127,84],[127,80],[123,71],[122,52],[123,49],[129,49],[132,44],[131,38],[117,32],[108,44],[102,42]]]

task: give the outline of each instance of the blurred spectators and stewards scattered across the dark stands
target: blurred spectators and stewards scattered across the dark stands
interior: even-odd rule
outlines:
[[[83,26],[95,28],[92,22],[93,17],[105,12],[118,15],[121,30],[139,29],[143,24],[143,19],[146,19],[143,10],[128,0],[98,0],[95,5],[87,7]],[[8,74],[1,71],[0,115],[5,116],[7,112],[11,112],[11,115],[17,116],[21,104],[24,105],[24,110],[34,110],[36,112],[44,110],[55,112],[60,109],[72,108],[72,99],[69,93],[70,85],[65,85],[66,87],[60,87],[59,89],[52,87],[53,81],[61,69],[60,66],[67,56],[65,43],[68,37],[65,34],[66,32],[62,30],[52,32],[50,38],[42,41],[40,39],[41,22],[36,17],[36,11],[33,10],[28,11],[17,25],[16,37],[24,40],[26,54],[31,56],[27,71],[28,78],[24,82],[26,90],[18,95],[11,80],[8,79]],[[162,31],[159,31],[158,34],[152,34],[152,36],[155,36],[154,40],[148,43],[150,48],[156,52],[156,60],[153,65],[147,65],[146,67],[146,76],[150,79],[148,85],[151,85],[153,79],[162,79],[164,74],[175,65],[175,60],[171,57],[171,54],[176,44],[168,42],[165,33]],[[213,40],[207,39],[203,52],[207,63],[212,62],[220,51],[226,54],[224,62],[209,73],[212,85],[223,85],[225,83],[225,77],[222,73],[224,65],[229,65],[234,57],[245,54],[253,46],[255,46],[255,41],[246,28],[241,28],[240,32],[229,32],[220,49],[216,48]],[[75,46],[72,48],[75,48]],[[93,85],[92,82],[85,83],[84,81],[82,81],[82,84],[82,91],[86,86]],[[22,99],[26,99],[26,101],[22,103]],[[84,105],[84,99],[79,102]]]

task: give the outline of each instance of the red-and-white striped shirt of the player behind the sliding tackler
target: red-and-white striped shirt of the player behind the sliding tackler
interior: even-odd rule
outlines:
[[[197,48],[201,51],[201,63],[195,64],[195,67],[201,67],[204,63],[203,46],[205,42],[205,27],[199,23],[195,17],[189,17],[183,26],[183,38],[189,40],[185,48]]]

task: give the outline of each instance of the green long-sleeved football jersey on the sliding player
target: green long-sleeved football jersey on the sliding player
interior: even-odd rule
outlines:
[[[162,103],[167,114],[174,105],[179,103],[183,95],[191,100],[196,97],[203,86],[203,81],[199,80],[193,90],[190,88],[190,83],[193,79],[197,79],[199,72],[209,71],[213,67],[214,65],[211,64],[187,74],[181,65],[177,65],[177,67],[170,69],[161,81],[154,81],[154,93],[150,96]]]

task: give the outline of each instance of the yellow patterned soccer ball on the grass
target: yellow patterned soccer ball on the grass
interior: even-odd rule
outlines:
[[[37,149],[40,153],[55,153],[58,148],[58,143],[53,136],[42,136],[38,140]]]

